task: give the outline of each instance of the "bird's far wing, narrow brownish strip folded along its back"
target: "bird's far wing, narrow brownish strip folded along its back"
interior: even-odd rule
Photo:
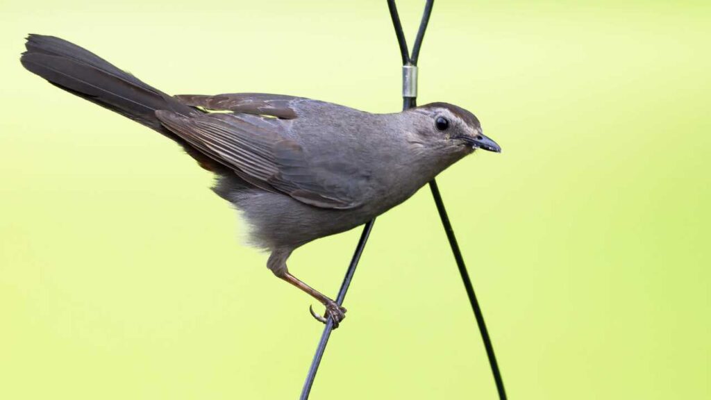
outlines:
[[[225,93],[222,95],[177,95],[178,101],[206,110],[229,110],[253,115],[273,115],[292,120],[298,114],[299,102],[315,102],[306,98],[267,93]]]

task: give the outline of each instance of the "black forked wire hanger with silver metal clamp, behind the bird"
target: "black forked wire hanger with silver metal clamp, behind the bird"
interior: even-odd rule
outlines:
[[[412,53],[410,54],[410,52],[407,50],[407,41],[405,41],[405,33],[403,33],[402,31],[402,23],[400,23],[400,16],[397,14],[397,6],[395,5],[395,0],[387,0],[387,8],[390,10],[392,26],[395,27],[395,36],[397,36],[397,43],[400,46],[400,55],[402,56],[402,110],[407,110],[408,108],[412,108],[417,105],[417,58],[419,58],[419,49],[422,47],[424,31],[427,30],[427,23],[429,22],[430,14],[432,14],[433,5],[434,0],[425,1],[424,12],[422,13],[422,21],[420,21],[419,23],[417,36],[415,36],[415,46],[413,46]],[[488,361],[491,365],[491,372],[493,374],[494,381],[496,382],[496,390],[498,391],[498,397],[500,400],[506,400],[506,391],[503,388],[503,379],[501,378],[501,372],[499,372],[498,369],[496,355],[493,352],[491,338],[488,335],[488,330],[486,330],[486,324],[484,323],[483,313],[481,312],[481,307],[479,307],[479,302],[476,300],[474,286],[471,285],[469,273],[466,270],[466,265],[464,265],[464,258],[461,256],[461,251],[459,250],[459,244],[457,244],[456,242],[456,237],[454,236],[454,229],[451,227],[449,217],[447,216],[447,210],[444,208],[444,201],[442,201],[442,195],[439,193],[437,181],[432,179],[432,181],[429,182],[429,188],[432,190],[434,204],[437,206],[439,218],[442,219],[442,226],[444,226],[444,231],[445,233],[447,233],[449,246],[451,246],[451,251],[454,254],[454,260],[456,260],[457,268],[459,268],[459,274],[461,275],[461,280],[464,283],[466,295],[469,297],[471,309],[474,311],[476,323],[477,325],[479,325],[479,331],[481,332],[481,340],[483,341],[484,347],[486,348],[486,355],[488,356]],[[368,236],[370,236],[370,231],[373,229],[373,223],[375,223],[375,219],[366,223],[365,227],[363,228],[363,233],[361,233],[360,235],[358,246],[356,246],[355,253],[353,253],[353,258],[351,259],[351,265],[348,266],[348,270],[346,271],[346,277],[343,278],[341,289],[338,290],[338,297],[336,298],[336,302],[338,303],[338,305],[343,305],[343,299],[346,298],[348,286],[351,285],[351,280],[353,280],[355,267],[358,266],[358,261],[360,260],[360,256],[363,254],[365,243],[368,242]],[[321,334],[319,346],[316,348],[314,360],[311,362],[311,367],[309,367],[309,373],[306,375],[306,381],[304,381],[304,387],[301,390],[301,396],[299,397],[299,399],[301,400],[309,399],[309,394],[311,393],[311,386],[313,386],[314,384],[316,372],[319,369],[319,364],[321,364],[321,358],[324,357],[324,352],[326,351],[326,344],[328,344],[328,338],[331,337],[332,331],[333,320],[331,320],[331,318],[329,317],[328,320],[326,320],[326,327],[324,327],[324,332]]]

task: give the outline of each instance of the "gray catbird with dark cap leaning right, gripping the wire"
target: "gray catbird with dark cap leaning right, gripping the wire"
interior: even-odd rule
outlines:
[[[346,309],[289,273],[292,251],[402,203],[474,149],[501,152],[471,112],[445,102],[370,114],[287,95],[169,96],[63,39],[30,35],[26,48],[31,72],[175,140],[214,172],[215,193],[271,251],[267,267],[323,303],[335,327]]]

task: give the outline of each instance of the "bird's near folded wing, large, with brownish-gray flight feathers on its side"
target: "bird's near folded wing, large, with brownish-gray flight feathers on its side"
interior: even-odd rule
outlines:
[[[284,110],[289,109],[274,105],[287,96],[264,98],[249,105],[219,97],[192,96],[186,104],[217,110],[252,107],[264,115],[286,115]],[[266,112],[263,107],[277,110]],[[314,165],[301,145],[284,135],[284,121],[278,118],[217,112],[186,117],[162,110],[156,116],[166,128],[257,187],[280,191],[325,209],[352,209],[360,205],[357,191],[348,186],[348,171],[353,168],[334,170],[343,167],[338,163]]]

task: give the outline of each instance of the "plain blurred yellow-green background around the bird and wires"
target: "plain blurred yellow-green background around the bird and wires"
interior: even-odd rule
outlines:
[[[412,42],[421,1],[400,1]],[[706,1],[438,0],[420,98],[502,154],[439,184],[512,399],[711,397]],[[0,398],[294,399],[321,325],[175,144],[18,62],[67,38],[168,93],[401,106],[385,1],[0,5]],[[236,228],[235,228],[236,226]],[[296,251],[335,295],[360,229]],[[378,219],[313,399],[493,399],[429,190]]]

